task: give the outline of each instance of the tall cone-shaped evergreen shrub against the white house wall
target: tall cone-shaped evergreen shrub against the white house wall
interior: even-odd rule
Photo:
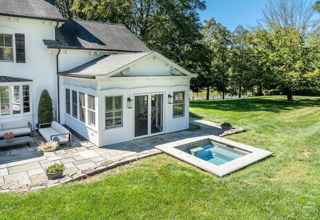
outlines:
[[[52,102],[49,92],[44,89],[41,92],[38,104],[38,123],[47,123],[53,120]]]

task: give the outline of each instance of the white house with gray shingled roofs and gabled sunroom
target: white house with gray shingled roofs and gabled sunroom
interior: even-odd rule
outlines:
[[[182,130],[191,77],[123,25],[64,19],[50,0],[0,0],[1,122],[35,125],[45,88],[55,120],[98,146]]]

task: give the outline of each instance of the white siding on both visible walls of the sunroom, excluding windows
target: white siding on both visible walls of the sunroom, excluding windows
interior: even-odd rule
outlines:
[[[150,62],[150,65],[154,63]],[[144,63],[146,69],[150,69]],[[137,66],[141,69],[141,66]],[[143,69],[142,68],[142,69]],[[149,74],[162,74],[163,68],[154,69]],[[144,74],[142,74],[144,75]],[[65,87],[70,90],[89,88],[96,91],[96,129],[92,130],[83,122],[65,113]],[[68,76],[60,77],[60,123],[65,123],[76,132],[90,139],[98,146],[133,140],[134,137],[134,106],[127,108],[127,98],[134,99],[140,94],[163,94],[163,132],[174,132],[188,128],[188,91],[189,77],[184,76],[121,76],[105,79],[86,79]],[[172,104],[168,104],[168,95],[174,91],[184,91],[185,111],[181,117],[172,117]],[[121,127],[105,128],[105,96],[122,96],[123,124]],[[152,134],[151,134],[152,135]]]

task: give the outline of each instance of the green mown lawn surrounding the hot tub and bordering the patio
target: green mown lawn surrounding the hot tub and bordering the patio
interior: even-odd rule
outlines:
[[[320,97],[192,101],[227,136],[274,152],[226,177],[160,154],[27,194],[0,194],[0,219],[320,219]],[[96,178],[96,177],[94,177]]]

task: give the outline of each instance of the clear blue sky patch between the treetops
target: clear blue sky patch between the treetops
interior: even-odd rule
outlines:
[[[199,12],[200,19],[214,17],[216,22],[230,31],[238,24],[255,25],[256,19],[261,18],[262,10],[267,0],[205,0],[206,10]]]

